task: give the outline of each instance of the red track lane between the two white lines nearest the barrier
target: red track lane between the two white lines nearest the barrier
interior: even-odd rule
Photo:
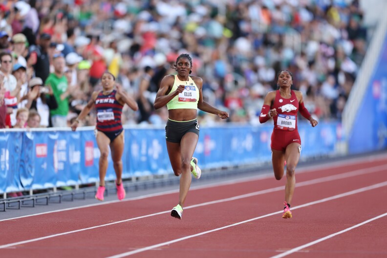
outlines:
[[[381,161],[373,163],[376,166],[376,170],[380,166],[386,166],[380,165],[380,163]],[[357,165],[356,167],[359,168],[357,170],[359,172],[367,172],[369,169],[366,169],[366,171],[364,171],[364,169],[369,166],[370,164],[362,164]],[[353,168],[353,165],[350,165],[350,168]],[[340,171],[346,172],[347,168],[342,168]],[[305,175],[307,178],[310,178],[311,174],[312,173],[301,173],[298,178],[302,178]],[[320,172],[319,175],[329,176],[335,174],[337,174],[337,172],[334,170],[324,170]],[[228,198],[238,194],[249,194],[254,190],[267,189],[268,187],[277,187],[276,191],[281,192],[283,191],[283,182],[282,180],[276,181],[272,178],[264,178],[262,180],[243,182],[235,185],[200,189],[192,191],[189,194],[189,199],[193,205],[197,205],[209,200],[209,198],[212,200]],[[152,214],[152,211],[165,211],[166,213],[169,213],[169,211],[166,211],[165,208],[173,207],[175,205],[174,200],[177,196],[173,195],[177,194],[156,196],[148,198],[145,201],[137,200],[133,202],[112,203],[107,206],[93,206],[84,209],[56,213],[54,215],[45,214],[39,216],[40,219],[35,219],[35,217],[24,217],[16,220],[1,221],[3,228],[5,228],[3,233],[9,237],[0,239],[0,245],[10,243],[10,239],[12,239],[12,242],[18,242],[26,239],[23,234],[26,228],[29,229],[30,235],[28,238],[31,239],[73,230],[82,230],[88,227],[99,226],[101,224],[126,220],[128,217],[136,218],[143,215],[149,215]],[[190,203],[189,201],[187,202]],[[135,209],[133,209],[133,207],[135,207]],[[114,217],[112,217],[112,215]]]

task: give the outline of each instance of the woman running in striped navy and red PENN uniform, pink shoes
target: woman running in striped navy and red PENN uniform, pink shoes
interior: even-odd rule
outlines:
[[[105,193],[105,175],[108,170],[108,154],[111,151],[114,171],[117,175],[117,197],[122,200],[125,198],[125,189],[122,185],[122,153],[124,151],[124,134],[121,113],[125,104],[133,110],[137,110],[137,103],[124,92],[121,86],[115,84],[114,76],[105,72],[102,75],[101,83],[103,90],[94,91],[86,107],[82,109],[77,119],[71,125],[75,131],[79,120],[84,119],[90,110],[95,106],[97,109],[96,138],[98,148],[101,152],[99,160],[100,186],[95,198],[103,201]],[[116,89],[114,89],[116,86]]]

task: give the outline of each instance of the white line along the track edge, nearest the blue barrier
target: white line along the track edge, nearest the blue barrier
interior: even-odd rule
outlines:
[[[318,170],[322,170],[322,169],[328,170],[328,169],[349,166],[349,165],[354,165],[354,164],[363,164],[364,162],[379,161],[379,160],[383,160],[385,158],[387,158],[385,154],[379,154],[379,155],[375,155],[375,156],[360,157],[360,158],[349,159],[349,160],[344,160],[344,161],[334,161],[334,162],[330,162],[328,164],[318,165],[319,166]],[[311,170],[313,168],[313,166],[314,165],[297,169],[297,173],[299,174],[299,173],[305,173],[305,172],[314,172],[313,170]],[[380,167],[380,166],[378,166],[378,167]],[[272,175],[271,171],[268,171],[265,174],[244,177],[241,179],[232,179],[232,180],[227,180],[227,181],[220,182],[220,183],[210,183],[210,184],[205,184],[205,185],[201,185],[201,186],[192,186],[190,188],[190,191],[199,190],[199,189],[207,189],[207,188],[211,188],[211,187],[226,186],[226,185],[237,184],[237,183],[250,182],[253,180],[262,180],[262,179],[270,178],[272,176],[273,175]],[[164,192],[159,192],[159,193],[154,193],[154,194],[145,194],[145,195],[141,195],[141,196],[137,196],[137,197],[126,198],[126,199],[121,200],[121,201],[112,200],[112,201],[106,201],[106,202],[98,202],[98,203],[87,204],[87,205],[71,207],[71,208],[65,208],[65,209],[60,209],[60,210],[55,210],[55,211],[48,211],[48,212],[42,212],[42,213],[37,213],[37,214],[30,214],[30,215],[23,215],[23,216],[18,216],[18,217],[5,218],[5,219],[0,219],[0,222],[6,221],[6,220],[12,220],[12,219],[24,218],[24,217],[45,215],[45,214],[51,214],[51,213],[57,213],[57,212],[71,211],[71,210],[76,210],[76,209],[83,209],[83,208],[94,207],[94,206],[99,206],[99,205],[106,205],[106,204],[111,204],[111,203],[116,203],[116,202],[141,200],[141,199],[146,199],[146,198],[151,198],[151,197],[162,196],[165,194],[176,194],[178,192],[179,192],[179,190],[176,189],[176,190],[164,191]]]

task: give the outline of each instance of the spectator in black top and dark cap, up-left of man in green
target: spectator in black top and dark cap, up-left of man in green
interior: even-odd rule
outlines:
[[[39,45],[32,45],[29,49],[29,56],[31,56],[31,63],[35,70],[35,76],[39,77],[45,82],[50,74],[50,59],[48,56],[48,48],[51,42],[51,35],[43,33],[38,39]]]

